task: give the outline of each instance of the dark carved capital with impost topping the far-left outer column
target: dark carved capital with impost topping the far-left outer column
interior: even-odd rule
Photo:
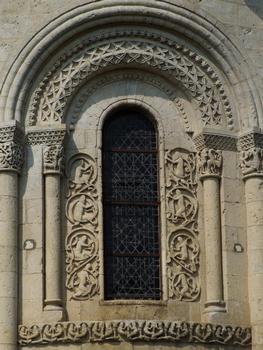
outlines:
[[[23,136],[17,125],[0,128],[0,171],[20,172],[24,162]]]

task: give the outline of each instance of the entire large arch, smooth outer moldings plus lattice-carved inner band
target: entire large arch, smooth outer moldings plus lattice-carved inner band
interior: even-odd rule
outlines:
[[[131,22],[134,29],[124,28]],[[1,90],[2,121],[61,123],[94,74],[131,66],[178,82],[196,101],[203,126],[260,127],[262,106],[246,61],[218,27],[171,1],[89,2],[51,21],[20,52]],[[39,84],[32,91],[33,81]]]

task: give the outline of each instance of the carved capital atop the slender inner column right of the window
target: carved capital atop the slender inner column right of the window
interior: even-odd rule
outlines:
[[[199,177],[220,177],[222,170],[222,151],[204,148],[198,153]]]

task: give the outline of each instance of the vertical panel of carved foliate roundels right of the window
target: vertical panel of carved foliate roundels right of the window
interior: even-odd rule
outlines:
[[[195,154],[173,149],[165,162],[169,297],[194,301],[200,295]]]

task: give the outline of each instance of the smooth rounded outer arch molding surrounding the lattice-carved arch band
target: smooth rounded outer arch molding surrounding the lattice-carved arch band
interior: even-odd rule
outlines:
[[[117,9],[118,11],[116,11]],[[118,0],[89,2],[50,22],[26,45],[9,71],[2,89],[3,119],[23,121],[28,87],[32,80],[40,74],[39,68],[42,62],[50,57],[67,39],[72,39],[73,35],[88,28],[112,23],[113,20],[117,24],[123,22],[126,18],[140,24],[145,20],[145,16],[152,24],[162,28],[164,32],[172,30],[179,35],[183,34],[186,39],[191,37],[192,42],[201,47],[203,51],[209,52],[215,65],[219,67],[219,71],[227,77],[227,83],[223,84],[224,88],[229,85],[233,96],[236,97],[237,119],[239,119],[240,128],[260,126],[261,103],[251,74],[238,48],[223,35],[220,29],[204,17],[174,5],[171,1],[156,1],[154,6],[149,8],[144,0],[139,1],[136,5],[127,4],[125,6],[122,6]],[[170,42],[167,41],[166,45],[169,47]],[[163,44],[159,47],[163,47]],[[182,51],[185,51],[185,48],[182,48]],[[213,72],[212,67],[203,61],[202,55],[195,55],[190,50],[184,52],[184,54],[185,56],[190,55],[197,62],[197,66],[199,62],[203,68],[208,69],[206,79],[208,79],[207,77],[209,77],[209,80],[214,79],[214,87],[217,86],[217,83],[220,85],[216,73]],[[41,60],[38,59],[40,56]],[[165,64],[168,63],[165,62]],[[226,102],[226,105],[224,103],[223,105],[227,116],[231,114],[230,107],[224,97],[224,88],[219,85],[217,86],[218,96]],[[42,86],[40,86],[40,89],[42,89]],[[212,98],[214,97],[212,96]],[[246,119],[249,116],[248,122],[245,121],[243,115]]]

